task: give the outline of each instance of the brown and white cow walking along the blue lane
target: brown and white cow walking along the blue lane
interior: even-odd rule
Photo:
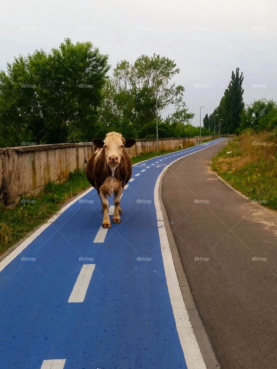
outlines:
[[[125,140],[120,133],[110,132],[104,141],[96,138],[92,142],[96,148],[88,159],[86,177],[96,188],[102,202],[104,213],[102,226],[110,228],[107,195],[111,197],[114,193],[113,223],[120,223],[119,215],[122,214],[120,196],[132,175],[131,158],[124,148],[133,146],[136,140],[133,138]]]

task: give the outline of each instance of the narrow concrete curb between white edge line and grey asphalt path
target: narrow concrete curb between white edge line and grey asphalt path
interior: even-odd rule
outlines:
[[[167,237],[168,237],[168,242],[170,245],[170,250],[171,250],[171,254],[172,254],[172,259],[174,262],[174,266],[175,266],[175,270],[176,270],[176,274],[177,274],[177,278],[178,278],[178,282],[179,282],[179,286],[181,289],[181,293],[182,293],[182,297],[185,303],[185,307],[187,309],[188,312],[188,316],[189,316],[189,320],[191,321],[191,325],[192,325],[192,329],[194,331],[194,335],[196,338],[196,341],[198,342],[201,354],[203,356],[205,365],[207,369],[219,369],[220,365],[216,359],[215,353],[212,349],[212,346],[209,342],[208,336],[205,332],[205,328],[202,324],[201,318],[199,317],[198,314],[198,310],[195,306],[194,303],[194,299],[192,297],[192,293],[191,293],[191,289],[189,288],[189,284],[188,284],[188,280],[187,280],[187,276],[185,274],[180,256],[179,256],[179,252],[178,252],[178,248],[177,245],[175,243],[175,239],[170,227],[170,223],[167,217],[167,212],[165,210],[164,204],[163,204],[163,199],[162,199],[162,186],[163,186],[163,177],[165,175],[165,173],[167,172],[167,170],[165,170],[165,172],[163,173],[163,176],[161,177],[160,180],[160,185],[159,185],[159,201],[160,201],[160,206],[161,206],[161,210],[163,213],[163,218],[164,218],[164,224],[165,224],[165,230],[167,232]]]

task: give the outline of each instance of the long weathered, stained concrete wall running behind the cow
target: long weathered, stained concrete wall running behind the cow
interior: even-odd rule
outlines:
[[[204,140],[212,138],[205,136]],[[176,149],[180,145],[185,148],[196,142],[199,142],[199,137],[160,139],[159,151]],[[69,172],[85,168],[92,151],[92,142],[0,149],[0,202],[8,206],[16,203],[20,196],[39,192],[50,180],[66,180]],[[131,156],[156,151],[156,140],[138,140],[127,151]]]

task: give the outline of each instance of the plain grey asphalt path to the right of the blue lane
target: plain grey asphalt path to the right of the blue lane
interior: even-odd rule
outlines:
[[[212,157],[227,142],[172,165],[163,203],[221,368],[276,369],[277,213],[244,199],[211,171]]]

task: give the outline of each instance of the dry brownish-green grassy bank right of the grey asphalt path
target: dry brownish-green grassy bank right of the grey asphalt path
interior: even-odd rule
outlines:
[[[270,132],[240,135],[213,158],[212,169],[251,200],[277,210],[275,135]]]

